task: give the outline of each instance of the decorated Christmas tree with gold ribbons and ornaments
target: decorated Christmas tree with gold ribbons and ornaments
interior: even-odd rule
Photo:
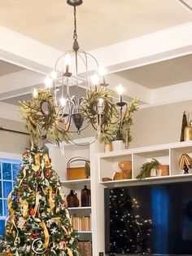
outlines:
[[[1,255],[78,255],[59,176],[44,148],[24,152],[8,210]]]

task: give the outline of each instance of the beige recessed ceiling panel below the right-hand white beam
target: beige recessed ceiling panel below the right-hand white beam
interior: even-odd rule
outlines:
[[[151,89],[189,82],[192,81],[192,55],[159,61],[116,74]]]

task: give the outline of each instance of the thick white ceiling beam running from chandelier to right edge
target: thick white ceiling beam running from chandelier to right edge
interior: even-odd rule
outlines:
[[[192,22],[90,52],[110,73],[192,53]]]

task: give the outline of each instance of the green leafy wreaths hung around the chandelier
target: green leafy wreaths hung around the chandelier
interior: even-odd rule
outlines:
[[[20,102],[19,109],[29,134],[33,139],[47,139],[53,143],[72,141],[70,124],[62,116],[61,107],[57,106],[50,90],[35,90],[33,99]],[[128,143],[131,140],[132,116],[138,109],[137,105],[138,98],[135,98],[125,106],[120,117],[120,109],[112,98],[112,91],[106,87],[95,86],[94,90],[87,90],[78,111],[87,124],[97,131],[97,139],[101,143],[110,143],[115,139]]]

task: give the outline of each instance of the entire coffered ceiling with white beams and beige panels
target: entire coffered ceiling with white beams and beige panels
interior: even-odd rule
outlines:
[[[72,47],[72,15],[66,0],[0,0],[1,101],[18,104],[43,85],[42,70]],[[192,11],[179,0],[84,0],[77,33],[82,49],[107,64],[111,90],[122,83],[125,100],[164,104],[161,93],[192,88]]]

